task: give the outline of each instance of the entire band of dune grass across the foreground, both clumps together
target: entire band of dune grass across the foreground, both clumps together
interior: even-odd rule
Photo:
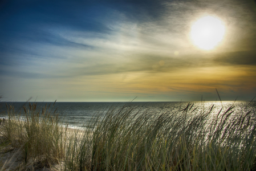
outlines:
[[[21,170],[256,170],[255,107],[248,105],[152,113],[128,103],[73,132],[47,105],[24,107],[25,120],[7,106],[1,133],[5,144],[21,149]]]

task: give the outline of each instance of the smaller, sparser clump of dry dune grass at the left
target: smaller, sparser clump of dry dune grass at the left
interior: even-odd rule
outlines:
[[[51,104],[50,104],[51,105]],[[14,148],[21,148],[26,166],[50,166],[58,164],[64,157],[64,129],[60,127],[58,115],[51,113],[50,105],[42,111],[36,109],[36,103],[23,106],[23,113],[17,114],[11,105],[7,105],[8,119],[3,125],[2,135]]]

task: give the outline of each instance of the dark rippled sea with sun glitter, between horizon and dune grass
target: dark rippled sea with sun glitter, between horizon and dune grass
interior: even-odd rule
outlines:
[[[31,102],[33,103],[33,102]],[[26,102],[0,102],[0,117],[8,117],[7,107],[12,106],[17,113],[21,112],[24,115],[23,105],[29,108],[29,103]],[[190,113],[208,112],[212,108],[212,113],[225,112],[231,106],[233,115],[243,116],[251,111],[251,120],[255,121],[256,101],[190,101],[190,102],[38,102],[36,103],[36,111],[42,111],[43,107],[48,108],[51,113],[58,114],[58,117],[63,120],[64,125],[68,123],[69,128],[81,128],[90,121],[90,119],[99,114],[104,116],[108,110],[118,109],[121,107],[135,108],[135,112],[151,112],[154,115],[161,113],[181,113],[189,104]],[[50,105],[50,107],[49,107]],[[193,111],[193,112],[192,112]]]

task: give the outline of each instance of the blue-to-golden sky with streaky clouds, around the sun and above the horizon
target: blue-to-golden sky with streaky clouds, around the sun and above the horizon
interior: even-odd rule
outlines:
[[[192,39],[207,16],[225,28],[211,49]],[[0,2],[6,101],[251,100],[255,66],[252,0]]]

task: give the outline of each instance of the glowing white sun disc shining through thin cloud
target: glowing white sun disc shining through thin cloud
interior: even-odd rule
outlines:
[[[221,42],[225,34],[225,26],[222,21],[212,16],[198,19],[191,27],[193,43],[204,50],[213,49]]]

